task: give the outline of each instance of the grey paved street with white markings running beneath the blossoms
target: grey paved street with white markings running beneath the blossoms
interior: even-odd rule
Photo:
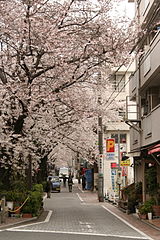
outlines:
[[[67,188],[52,193],[44,208],[48,211],[44,221],[8,228],[0,232],[2,239],[151,239],[117,217],[105,203],[87,202],[76,186],[72,193]]]

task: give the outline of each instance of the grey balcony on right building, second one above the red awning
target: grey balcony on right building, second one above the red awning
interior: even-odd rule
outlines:
[[[159,85],[160,77],[160,31],[157,32],[140,63],[140,87]]]

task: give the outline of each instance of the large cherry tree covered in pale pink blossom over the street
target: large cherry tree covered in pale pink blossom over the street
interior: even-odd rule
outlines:
[[[112,17],[119,1],[0,1],[1,166],[25,175],[29,158],[36,170],[45,156],[60,159],[62,145],[64,156],[95,151],[99,86],[105,102],[135,37],[126,18]],[[103,115],[115,117],[110,109]]]

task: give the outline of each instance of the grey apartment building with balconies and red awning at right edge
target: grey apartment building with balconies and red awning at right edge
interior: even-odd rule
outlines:
[[[130,78],[129,100],[136,103],[134,117],[127,103],[130,146],[135,183],[142,182],[143,201],[149,198],[146,173],[156,170],[160,183],[160,1],[135,0],[136,17],[142,31],[135,48],[136,71]]]

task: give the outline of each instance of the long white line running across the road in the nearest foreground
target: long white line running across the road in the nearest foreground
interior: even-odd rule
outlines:
[[[72,234],[72,235],[87,235],[87,236],[102,236],[102,237],[117,237],[117,238],[130,238],[130,239],[143,239],[146,240],[146,237],[134,237],[134,236],[120,236],[120,235],[112,235],[112,234],[99,234],[99,233],[86,233],[86,232],[65,232],[65,231],[52,231],[52,230],[28,230],[28,229],[7,229],[8,231],[15,232],[38,232],[38,233],[56,233],[56,234]]]

